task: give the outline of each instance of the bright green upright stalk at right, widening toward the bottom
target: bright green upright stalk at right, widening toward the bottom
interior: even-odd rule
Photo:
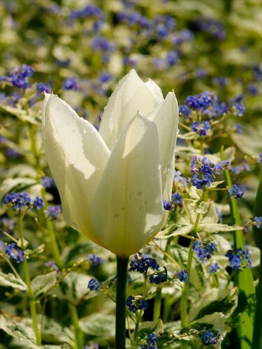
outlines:
[[[221,160],[224,161],[224,148],[220,151]],[[231,176],[228,170],[224,171],[226,184],[228,188],[232,188]],[[241,225],[240,211],[238,202],[235,198],[229,196],[231,206],[232,223]],[[242,230],[235,230],[233,235],[234,248],[245,248],[245,239]],[[252,334],[254,324],[254,304],[255,289],[252,271],[249,267],[235,272],[234,284],[238,286],[238,336],[240,339],[241,349],[252,348]]]

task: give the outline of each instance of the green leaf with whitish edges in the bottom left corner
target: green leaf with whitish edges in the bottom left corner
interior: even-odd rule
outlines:
[[[10,336],[18,339],[24,344],[25,348],[39,349],[36,346],[36,337],[34,334],[33,324],[31,319],[17,318],[0,315],[0,329]]]

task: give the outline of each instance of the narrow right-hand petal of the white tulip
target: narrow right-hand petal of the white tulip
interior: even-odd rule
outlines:
[[[170,200],[175,165],[175,143],[177,139],[178,105],[173,92],[147,118],[157,124],[163,199]]]

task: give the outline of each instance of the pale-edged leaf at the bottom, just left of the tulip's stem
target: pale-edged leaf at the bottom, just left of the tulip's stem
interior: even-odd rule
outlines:
[[[82,332],[94,337],[95,341],[108,341],[115,336],[115,316],[106,313],[94,313],[79,320]]]

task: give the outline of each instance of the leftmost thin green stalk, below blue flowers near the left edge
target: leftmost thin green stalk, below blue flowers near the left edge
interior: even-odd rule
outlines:
[[[19,235],[21,239],[21,247],[22,250],[24,250],[24,241],[23,241],[23,236],[22,236],[22,219],[23,216],[20,214],[19,218]],[[29,298],[29,306],[30,306],[30,312],[31,312],[31,319],[33,322],[33,327],[34,327],[34,333],[36,336],[36,345],[41,346],[41,332],[39,332],[38,329],[38,323],[37,323],[37,315],[36,315],[36,303],[34,301],[34,294],[31,289],[31,279],[30,279],[30,274],[29,274],[29,266],[27,262],[27,258],[24,258],[24,278],[27,283],[27,296]]]

